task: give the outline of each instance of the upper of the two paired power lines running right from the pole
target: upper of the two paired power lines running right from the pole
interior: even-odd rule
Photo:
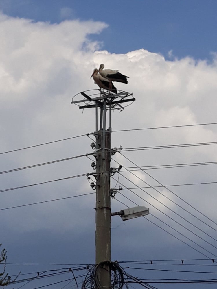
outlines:
[[[149,146],[149,147],[129,147],[123,148],[122,151],[144,151],[150,149],[171,149],[177,147],[195,147],[195,146],[203,146],[203,145],[213,145],[217,144],[217,142],[198,142],[198,143],[191,143],[191,144],[168,144],[168,145],[161,145],[161,146]]]

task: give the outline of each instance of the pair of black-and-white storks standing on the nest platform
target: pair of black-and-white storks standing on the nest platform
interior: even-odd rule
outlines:
[[[104,88],[110,90],[111,92],[117,93],[117,88],[113,85],[112,81],[128,83],[126,75],[121,74],[117,70],[111,69],[103,69],[104,64],[100,64],[99,70],[95,68],[93,70],[93,77],[95,84],[97,84],[100,88]],[[98,74],[99,72],[99,74]]]

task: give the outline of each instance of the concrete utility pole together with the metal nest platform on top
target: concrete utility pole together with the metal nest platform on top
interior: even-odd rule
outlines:
[[[103,90],[93,90],[80,92],[71,101],[80,109],[95,108],[95,132],[96,138],[94,156],[96,158],[96,206],[95,206],[95,264],[104,261],[111,261],[111,200],[110,200],[110,162],[111,162],[111,110],[124,110],[123,103],[133,102],[135,98],[132,93],[119,92],[113,94]],[[80,95],[84,97],[79,99]],[[89,96],[91,95],[91,97]],[[94,96],[94,97],[93,97]],[[80,105],[84,103],[85,105]],[[100,109],[100,121],[98,127],[98,109]],[[106,112],[109,110],[106,130]],[[108,265],[99,268],[96,276],[97,283],[101,288],[111,288],[111,272]]]

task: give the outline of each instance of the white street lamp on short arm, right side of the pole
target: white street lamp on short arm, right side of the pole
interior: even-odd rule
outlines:
[[[137,206],[133,208],[128,208],[121,210],[119,212],[111,213],[111,216],[121,216],[123,221],[130,220],[133,218],[138,218],[141,216],[146,216],[149,214],[149,208],[145,206]]]

